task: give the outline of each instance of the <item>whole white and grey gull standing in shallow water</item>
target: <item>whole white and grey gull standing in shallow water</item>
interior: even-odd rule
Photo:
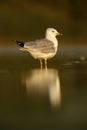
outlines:
[[[21,47],[20,50],[29,52],[35,59],[40,60],[42,68],[42,60],[45,60],[45,68],[47,68],[47,60],[54,57],[57,53],[58,40],[56,38],[60,34],[54,28],[47,28],[44,39],[39,39],[30,42],[21,42],[15,40]]]

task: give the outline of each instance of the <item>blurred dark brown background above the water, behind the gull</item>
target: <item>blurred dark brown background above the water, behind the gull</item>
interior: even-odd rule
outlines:
[[[86,0],[0,1],[0,44],[43,38],[48,27],[63,33],[62,44],[86,44],[86,6]]]

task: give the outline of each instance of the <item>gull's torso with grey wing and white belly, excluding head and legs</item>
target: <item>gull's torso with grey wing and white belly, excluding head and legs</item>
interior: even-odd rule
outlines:
[[[28,51],[35,59],[50,59],[55,55],[53,42],[47,39],[26,42],[24,49]]]

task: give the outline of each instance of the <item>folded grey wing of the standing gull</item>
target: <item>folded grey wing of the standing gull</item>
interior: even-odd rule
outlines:
[[[32,42],[26,42],[24,47],[42,53],[55,52],[54,43],[47,39],[40,39]]]

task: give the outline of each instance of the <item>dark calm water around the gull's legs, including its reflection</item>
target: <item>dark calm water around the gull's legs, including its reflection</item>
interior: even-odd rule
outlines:
[[[0,52],[0,130],[87,129],[86,48],[60,49],[47,70],[24,52]]]

